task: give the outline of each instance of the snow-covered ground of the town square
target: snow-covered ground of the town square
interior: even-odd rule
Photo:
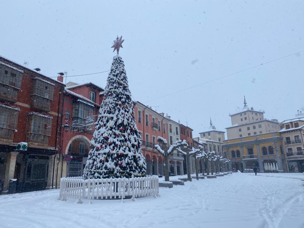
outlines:
[[[279,177],[279,178],[278,178]],[[303,174],[233,173],[160,188],[161,197],[57,200],[59,190],[0,196],[0,227],[304,227]]]

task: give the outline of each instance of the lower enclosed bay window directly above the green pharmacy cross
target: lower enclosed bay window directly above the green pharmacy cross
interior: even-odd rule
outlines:
[[[52,132],[52,120],[51,116],[29,112],[26,130],[27,142],[48,145]]]

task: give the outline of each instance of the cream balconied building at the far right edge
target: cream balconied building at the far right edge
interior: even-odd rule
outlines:
[[[295,115],[296,118],[280,123],[280,133],[283,138],[285,157],[289,172],[304,172],[303,130],[304,113]]]

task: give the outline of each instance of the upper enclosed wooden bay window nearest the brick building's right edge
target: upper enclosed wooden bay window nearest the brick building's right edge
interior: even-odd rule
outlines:
[[[49,111],[54,96],[54,84],[41,78],[34,78],[31,90],[31,106]]]

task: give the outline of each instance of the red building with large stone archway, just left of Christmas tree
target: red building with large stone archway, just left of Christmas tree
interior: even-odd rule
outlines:
[[[70,115],[69,131],[62,137],[62,159],[58,168],[57,186],[61,177],[81,176],[88,158],[104,90],[91,82],[67,83],[63,113]],[[56,183],[55,183],[56,184]]]

